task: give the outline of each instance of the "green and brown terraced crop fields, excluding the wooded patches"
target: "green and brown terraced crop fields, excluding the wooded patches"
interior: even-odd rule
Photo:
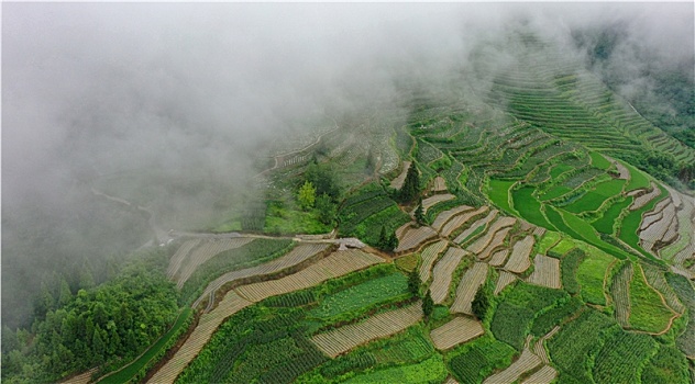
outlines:
[[[489,88],[468,87],[482,100],[404,101],[407,117],[384,120],[380,136],[367,128],[373,117],[352,122],[374,143],[337,133],[317,151],[350,176],[341,179],[338,236],[374,248],[326,256],[327,245],[298,242],[219,276],[199,302],[224,284],[232,291],[151,381],[173,382],[225,319],[254,308],[262,319],[282,313],[279,325],[234,350],[216,345],[216,372],[249,365],[257,375],[239,377],[258,383],[691,382],[695,199],[632,162],[655,150],[695,163],[695,150],[552,44],[509,38],[527,52]],[[466,75],[475,71],[485,66]],[[283,167],[300,177],[311,155]],[[380,169],[365,172],[367,156]],[[398,197],[410,163],[429,226],[413,225],[417,203]],[[375,249],[382,225],[399,240],[395,252]],[[184,241],[168,276],[184,284],[212,260],[205,247],[216,241]],[[393,259],[397,267],[385,262]],[[260,281],[233,285],[250,276]],[[428,287],[434,305],[424,316]],[[472,317],[478,290],[490,304],[482,321]]]

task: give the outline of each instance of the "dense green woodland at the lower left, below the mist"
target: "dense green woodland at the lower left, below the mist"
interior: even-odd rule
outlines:
[[[58,377],[102,366],[123,366],[164,335],[177,317],[176,290],[166,279],[164,249],[134,255],[112,281],[79,290],[60,300],[44,320],[36,320],[34,338],[18,331],[10,345],[3,331],[3,381],[55,382]]]

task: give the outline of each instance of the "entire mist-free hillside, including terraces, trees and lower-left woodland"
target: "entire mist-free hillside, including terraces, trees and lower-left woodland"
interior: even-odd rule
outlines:
[[[153,246],[3,329],[3,382],[694,383],[693,142],[545,32],[501,35],[258,146],[205,226],[95,176]]]

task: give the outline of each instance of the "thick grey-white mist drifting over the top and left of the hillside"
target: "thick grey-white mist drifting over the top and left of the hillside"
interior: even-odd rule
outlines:
[[[365,108],[407,113],[404,83],[486,87],[462,74],[481,49],[504,69],[519,27],[584,61],[573,33],[619,27],[603,65],[627,68],[626,92],[647,81],[636,57],[692,70],[693,3],[3,3],[3,324],[31,314],[18,284],[33,295],[85,262],[104,279],[98,260],[152,238],[95,190],[203,228],[257,196],[278,142]]]

